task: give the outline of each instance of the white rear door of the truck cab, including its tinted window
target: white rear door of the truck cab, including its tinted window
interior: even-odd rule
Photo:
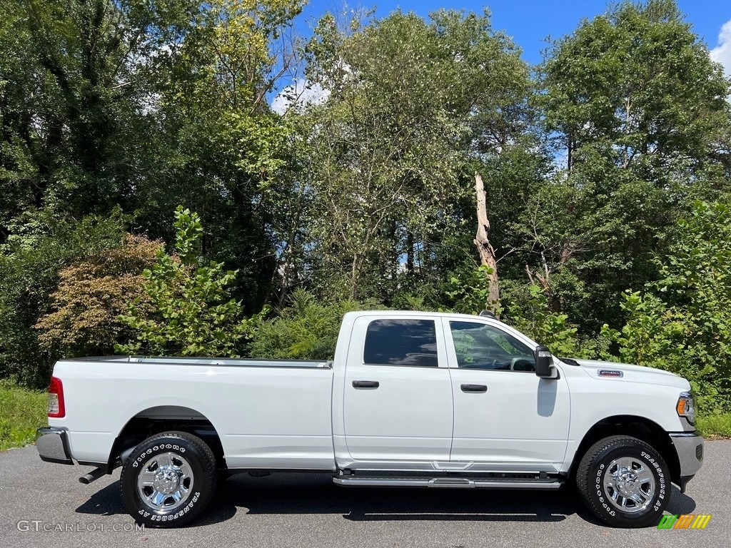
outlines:
[[[353,461],[376,468],[449,463],[452,385],[438,318],[380,313],[355,319],[343,390],[344,438]],[[337,445],[336,436],[336,451]]]

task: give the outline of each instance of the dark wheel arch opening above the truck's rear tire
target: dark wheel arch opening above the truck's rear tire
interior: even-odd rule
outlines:
[[[153,406],[132,416],[122,427],[110,450],[107,473],[124,465],[126,457],[142,441],[168,430],[196,435],[211,448],[217,467],[227,468],[221,438],[208,417],[185,406]]]

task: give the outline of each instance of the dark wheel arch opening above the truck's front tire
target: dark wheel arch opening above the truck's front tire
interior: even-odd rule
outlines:
[[[603,438],[611,435],[629,435],[640,439],[646,444],[654,447],[660,453],[667,466],[670,468],[670,479],[675,484],[681,482],[681,465],[678,461],[678,454],[675,452],[673,441],[664,428],[656,422],[644,416],[635,415],[613,415],[607,416],[596,422],[584,435],[581,443],[577,446],[574,457],[571,461],[569,477],[575,479],[576,468],[579,461],[588,449]]]

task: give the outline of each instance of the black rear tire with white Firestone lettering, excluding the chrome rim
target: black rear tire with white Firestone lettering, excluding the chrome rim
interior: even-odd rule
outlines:
[[[189,463],[193,473],[189,497],[183,506],[168,511],[149,506],[137,490],[140,472],[150,460],[162,453],[178,454]],[[137,446],[124,465],[120,479],[122,500],[137,522],[151,527],[177,527],[193,520],[208,503],[213,490],[213,486],[207,481],[210,473],[205,467],[205,455],[196,444],[175,435],[151,438]]]

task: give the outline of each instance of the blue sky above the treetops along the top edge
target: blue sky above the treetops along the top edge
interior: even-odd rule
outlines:
[[[713,50],[716,61],[724,62],[727,73],[731,72],[731,1],[729,0],[678,0],[678,7],[686,14],[686,21]],[[341,0],[310,0],[303,17],[308,23],[316,21],[326,11],[340,12]],[[461,0],[382,0],[349,1],[349,7],[376,7],[376,17],[382,18],[397,8],[404,12],[417,12],[426,16],[439,8],[464,9],[482,12],[485,5],[492,12],[493,28],[505,31],[523,50],[523,58],[530,63],[541,61],[541,50],[546,46],[545,37],[558,38],[570,34],[583,18],[593,18],[607,9],[605,0],[494,0],[482,2]],[[724,23],[725,39],[719,46],[719,33]]]

